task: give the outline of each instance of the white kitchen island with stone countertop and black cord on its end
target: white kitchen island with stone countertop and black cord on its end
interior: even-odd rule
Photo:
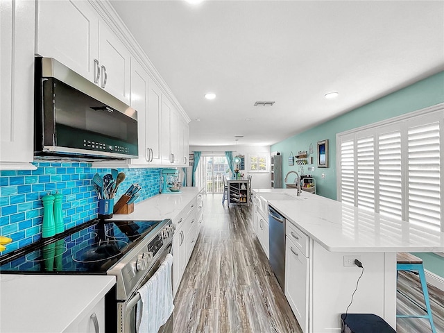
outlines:
[[[296,189],[253,189],[253,193],[296,197]],[[444,251],[443,232],[304,191],[295,200],[268,200],[268,205],[287,219],[285,294],[305,333],[340,332],[340,315],[361,275],[361,268],[345,267],[348,257],[358,257],[364,266],[348,312],[377,314],[395,328],[396,253]],[[292,239],[291,230],[306,237],[306,253],[297,248],[300,239]]]

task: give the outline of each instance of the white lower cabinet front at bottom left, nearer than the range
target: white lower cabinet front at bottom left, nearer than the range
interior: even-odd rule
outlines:
[[[105,333],[105,298],[99,300],[94,309],[83,318],[74,321],[65,333]]]

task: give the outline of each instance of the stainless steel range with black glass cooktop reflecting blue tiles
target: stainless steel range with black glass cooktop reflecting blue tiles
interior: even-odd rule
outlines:
[[[135,332],[137,291],[171,253],[175,225],[163,221],[94,220],[0,257],[0,273],[107,274],[106,332]],[[161,328],[171,332],[172,316]]]

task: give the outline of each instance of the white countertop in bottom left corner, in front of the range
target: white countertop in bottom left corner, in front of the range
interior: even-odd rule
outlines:
[[[63,332],[115,283],[108,275],[0,274],[0,332]]]

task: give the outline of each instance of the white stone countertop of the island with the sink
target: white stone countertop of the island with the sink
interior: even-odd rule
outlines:
[[[253,189],[257,196],[296,189]],[[444,232],[302,191],[296,200],[268,204],[330,252],[443,252]]]

